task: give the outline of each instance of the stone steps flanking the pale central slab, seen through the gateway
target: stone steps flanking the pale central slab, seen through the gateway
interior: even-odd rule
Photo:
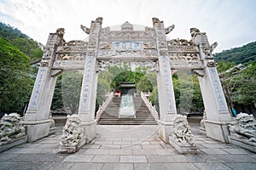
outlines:
[[[113,97],[105,111],[103,111],[99,125],[157,125],[154,117],[141,97],[133,97],[136,118],[119,118],[121,97]]]

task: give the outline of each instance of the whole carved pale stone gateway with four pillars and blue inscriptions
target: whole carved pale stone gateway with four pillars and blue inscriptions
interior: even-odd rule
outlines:
[[[231,121],[231,117],[218,79],[216,62],[212,58],[212,50],[217,42],[210,45],[206,33],[191,28],[191,40],[167,41],[166,34],[172,33],[174,25],[165,27],[164,22],[157,18],[153,18],[152,27],[145,27],[143,31],[133,30],[129,22],[125,22],[120,31],[112,31],[109,27],[102,27],[102,18],[92,20],[90,28],[81,28],[89,34],[88,42],[65,42],[63,28],[49,34],[25,116],[28,141],[49,135],[49,109],[55,82],[64,70],[84,71],[79,117],[86,143],[94,139],[97,73],[106,71],[109,65],[119,65],[125,61],[157,72],[160,139],[169,143],[173,119],[177,115],[172,71],[190,70],[198,76],[200,82],[207,113],[207,136],[228,142],[227,123]]]

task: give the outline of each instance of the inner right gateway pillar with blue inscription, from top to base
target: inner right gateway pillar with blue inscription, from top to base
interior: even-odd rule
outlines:
[[[169,57],[167,56],[168,48],[164,23],[155,19],[153,19],[153,22],[159,56],[159,72],[157,75],[160,103],[159,137],[164,142],[169,143],[169,136],[172,134],[172,120],[177,115],[172,85],[172,71]]]

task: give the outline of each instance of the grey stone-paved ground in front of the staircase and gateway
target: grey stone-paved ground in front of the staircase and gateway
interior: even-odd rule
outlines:
[[[197,155],[180,155],[157,137],[157,126],[97,126],[97,137],[72,155],[58,154],[54,135],[0,153],[0,169],[256,169],[256,154],[222,144],[192,126]]]

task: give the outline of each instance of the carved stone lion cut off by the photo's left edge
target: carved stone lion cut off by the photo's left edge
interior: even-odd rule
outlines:
[[[26,134],[25,125],[20,124],[20,115],[17,113],[5,114],[0,120],[0,144],[6,144],[11,139]]]

